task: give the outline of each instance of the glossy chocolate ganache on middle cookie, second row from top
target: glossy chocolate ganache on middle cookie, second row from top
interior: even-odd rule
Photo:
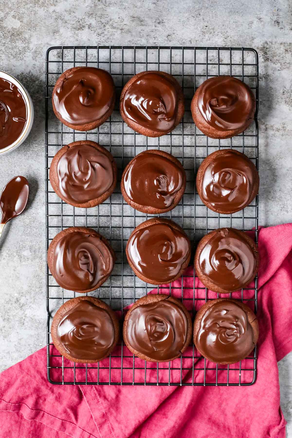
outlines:
[[[170,207],[182,185],[183,171],[176,163],[151,152],[137,155],[123,175],[131,201],[158,209]]]

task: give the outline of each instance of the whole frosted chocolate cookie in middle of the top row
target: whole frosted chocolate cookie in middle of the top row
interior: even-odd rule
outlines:
[[[142,71],[124,86],[120,113],[134,131],[160,137],[173,131],[183,118],[183,90],[171,74]]]

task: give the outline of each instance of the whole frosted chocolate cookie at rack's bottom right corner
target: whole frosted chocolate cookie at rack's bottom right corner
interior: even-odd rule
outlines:
[[[247,357],[259,337],[257,317],[238,300],[218,298],[197,312],[193,343],[202,356],[217,364],[235,364]]]

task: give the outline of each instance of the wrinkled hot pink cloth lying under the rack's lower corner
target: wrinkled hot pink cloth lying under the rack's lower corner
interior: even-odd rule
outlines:
[[[254,385],[51,385],[42,348],[0,374],[1,438],[284,438],[277,361],[292,350],[292,224],[261,228],[259,251],[260,338]],[[191,292],[192,282],[191,277],[184,279]],[[91,371],[96,372],[88,371],[89,380]]]

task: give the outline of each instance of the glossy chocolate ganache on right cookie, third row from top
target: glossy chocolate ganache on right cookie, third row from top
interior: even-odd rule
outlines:
[[[254,276],[253,248],[233,228],[217,230],[199,254],[201,273],[224,290],[246,286]]]

